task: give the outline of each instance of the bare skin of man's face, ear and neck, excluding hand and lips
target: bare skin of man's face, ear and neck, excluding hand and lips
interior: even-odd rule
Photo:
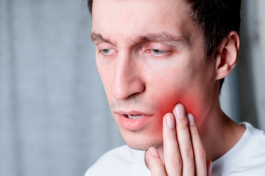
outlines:
[[[178,40],[137,41],[139,36],[161,33]],[[176,103],[182,103],[195,117],[206,159],[216,160],[240,139],[245,128],[222,112],[218,94],[219,79],[237,61],[239,37],[235,31],[206,61],[202,32],[193,25],[182,1],[95,0],[91,34],[113,118],[129,147],[147,151],[153,146],[164,162],[163,117],[173,112]],[[99,34],[101,39],[95,37]],[[101,49],[109,49],[109,53],[99,54]],[[155,55],[151,49],[168,53]],[[152,114],[152,120],[142,129],[127,130],[118,121],[116,112],[120,110],[146,112]],[[147,153],[145,161],[149,167]]]

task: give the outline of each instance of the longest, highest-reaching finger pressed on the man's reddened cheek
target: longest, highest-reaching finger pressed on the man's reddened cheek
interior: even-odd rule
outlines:
[[[176,104],[173,114],[176,117],[177,142],[182,159],[182,175],[194,175],[194,160],[189,125],[183,104]]]

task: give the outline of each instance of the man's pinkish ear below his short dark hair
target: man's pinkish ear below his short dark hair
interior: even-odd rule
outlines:
[[[220,43],[215,54],[215,80],[226,77],[236,66],[239,42],[237,32],[231,31],[227,39]]]

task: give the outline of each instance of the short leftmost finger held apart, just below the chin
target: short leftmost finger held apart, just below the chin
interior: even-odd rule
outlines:
[[[163,162],[154,147],[148,149],[149,167],[152,176],[166,176]]]

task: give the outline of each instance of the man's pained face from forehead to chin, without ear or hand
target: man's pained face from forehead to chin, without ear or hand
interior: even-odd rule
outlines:
[[[113,118],[129,147],[161,148],[162,118],[178,102],[200,126],[213,98],[214,62],[206,61],[185,3],[94,0],[92,39]],[[130,111],[146,116],[120,115]]]

